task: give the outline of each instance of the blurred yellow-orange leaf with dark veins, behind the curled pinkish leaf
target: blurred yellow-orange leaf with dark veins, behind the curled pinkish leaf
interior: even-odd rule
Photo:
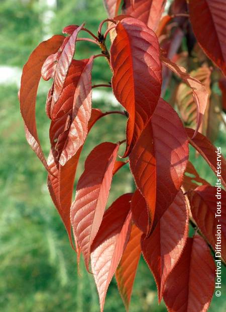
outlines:
[[[190,76],[198,80],[203,86],[205,86],[208,94],[210,96],[210,74],[211,70],[205,67],[199,67],[196,70],[191,71]],[[181,114],[182,120],[187,127],[195,129],[196,127],[196,120],[197,120],[197,112],[196,112],[196,103],[193,98],[193,91],[187,84],[182,82],[177,90],[176,95],[176,103]],[[206,107],[206,111],[208,110],[208,104]],[[205,117],[203,118],[203,122],[205,121]],[[206,126],[204,127],[203,124],[200,127],[199,132],[206,134]]]

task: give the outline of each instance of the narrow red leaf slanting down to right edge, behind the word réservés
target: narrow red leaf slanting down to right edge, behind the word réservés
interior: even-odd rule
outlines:
[[[221,172],[218,177],[221,179],[221,183],[226,188],[226,161],[223,155],[220,153],[217,160],[217,149],[210,141],[201,133],[197,133],[194,136],[194,130],[186,128],[189,143],[202,155],[206,163],[212,169],[215,175],[217,175],[217,161],[221,160]],[[221,149],[220,149],[221,151]]]

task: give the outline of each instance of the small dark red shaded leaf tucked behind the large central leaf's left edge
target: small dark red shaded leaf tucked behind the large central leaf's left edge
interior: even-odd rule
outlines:
[[[139,190],[136,190],[131,202],[132,220],[140,230],[147,234],[149,229],[148,205]]]

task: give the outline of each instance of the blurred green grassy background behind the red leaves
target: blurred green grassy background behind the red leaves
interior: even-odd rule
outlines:
[[[25,140],[17,93],[22,67],[41,41],[60,34],[66,25],[84,21],[96,33],[104,18],[102,0],[0,1],[0,310],[3,312],[99,311],[93,277],[85,271],[83,262],[81,276],[77,274],[76,255],[51,202],[46,172]],[[76,58],[92,52],[92,44],[79,42]],[[102,58],[95,60],[93,81],[110,81],[109,68]],[[37,100],[38,131],[46,154],[50,147],[49,120],[45,115],[48,89],[49,84],[41,82]],[[111,91],[95,89],[93,105],[107,111],[118,104]],[[124,139],[124,130],[123,116],[107,116],[98,121],[85,143],[77,177],[89,151],[101,141]],[[215,144],[222,147],[225,155],[224,135],[221,126]],[[214,175],[195,157],[193,150],[190,157],[202,177],[214,184]],[[124,167],[114,178],[109,203],[132,189],[132,177]],[[213,298],[211,312],[226,310],[225,268],[222,281],[222,295]],[[124,311],[115,279],[110,284],[104,310]],[[163,303],[157,303],[155,282],[143,259],[131,311],[166,311]]]

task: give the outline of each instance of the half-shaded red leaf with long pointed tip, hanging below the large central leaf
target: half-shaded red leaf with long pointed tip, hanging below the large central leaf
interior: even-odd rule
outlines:
[[[142,236],[142,252],[154,274],[159,302],[166,280],[184,249],[188,235],[188,220],[185,197],[182,191],[179,191],[173,203],[160,218],[152,235],[148,239],[145,239],[145,235]]]

